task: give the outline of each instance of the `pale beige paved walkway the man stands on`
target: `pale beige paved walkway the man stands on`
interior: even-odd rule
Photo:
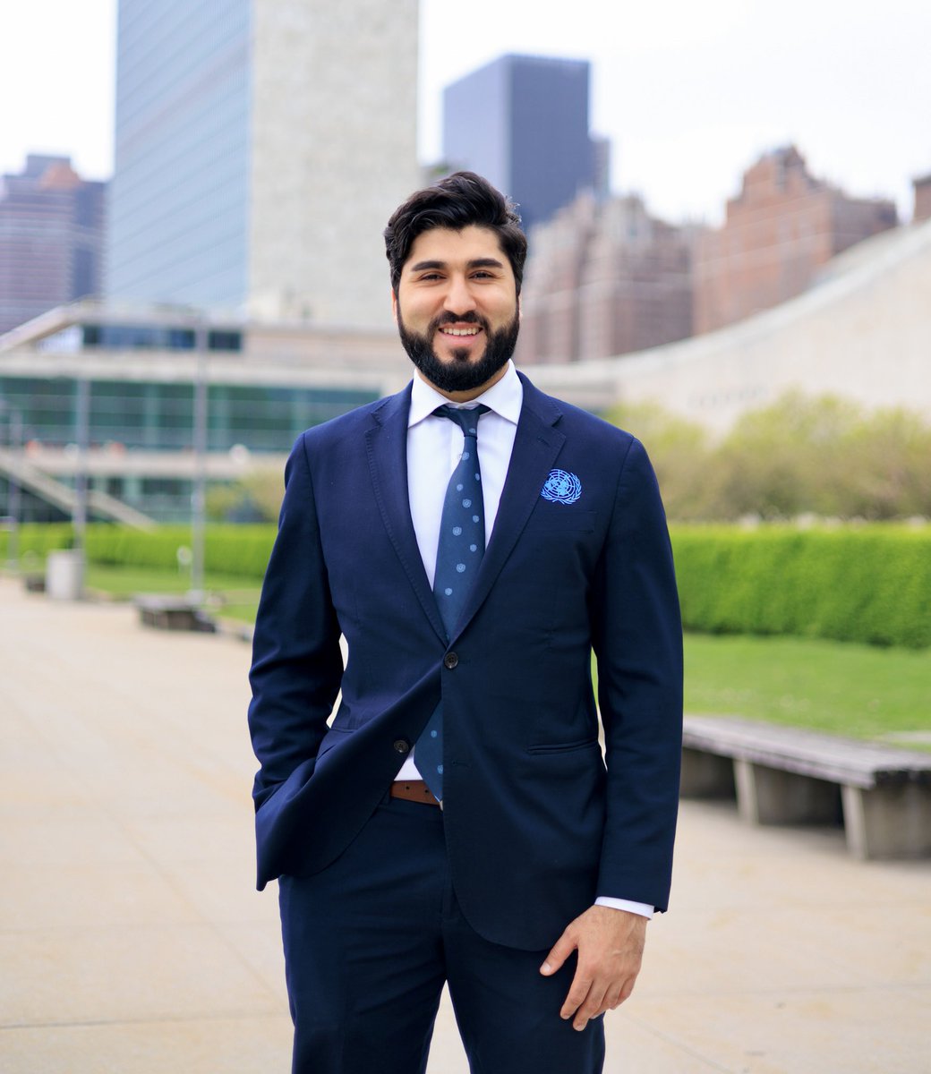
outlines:
[[[0,1071],[285,1074],[248,647],[0,580]],[[840,832],[687,802],[672,912],[609,1016],[606,1070],[920,1074],[929,1015],[931,862],[857,862]],[[467,1070],[447,1004],[430,1070]]]

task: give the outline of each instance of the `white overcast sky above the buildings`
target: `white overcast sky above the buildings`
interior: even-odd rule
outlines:
[[[742,172],[789,142],[816,175],[911,214],[911,179],[931,172],[929,0],[552,8],[421,0],[423,162],[440,156],[443,86],[504,53],[567,56],[592,61],[592,129],[612,142],[612,188],[640,191],[660,216],[717,221]],[[0,171],[45,151],[108,177],[116,0],[0,11]]]

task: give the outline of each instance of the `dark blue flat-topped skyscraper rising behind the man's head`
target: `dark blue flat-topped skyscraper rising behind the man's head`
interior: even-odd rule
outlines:
[[[524,229],[607,185],[588,134],[587,60],[501,56],[443,93],[443,162],[484,175],[520,205]]]

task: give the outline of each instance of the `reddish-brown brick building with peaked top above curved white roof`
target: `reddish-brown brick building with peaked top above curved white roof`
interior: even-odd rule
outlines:
[[[723,228],[695,251],[695,332],[710,332],[804,291],[832,257],[897,223],[890,201],[848,198],[813,177],[794,146],[744,173]]]

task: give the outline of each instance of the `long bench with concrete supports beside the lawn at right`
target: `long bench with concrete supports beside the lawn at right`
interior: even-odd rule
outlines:
[[[931,854],[931,753],[729,716],[686,716],[685,798],[753,824],[843,823],[859,858]]]

